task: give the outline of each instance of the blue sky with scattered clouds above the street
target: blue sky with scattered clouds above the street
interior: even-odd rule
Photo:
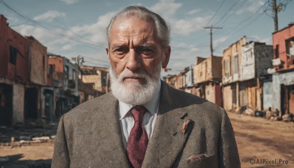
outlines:
[[[289,2],[278,13],[281,29],[294,21],[294,2],[279,2]],[[162,75],[178,73],[194,64],[196,56],[210,55],[209,30],[203,26],[222,27],[213,30],[214,55],[221,56],[244,35],[247,41],[272,45],[268,0],[0,0],[0,14],[11,28],[34,36],[49,52],[69,59],[82,55],[85,65],[109,67],[105,28],[116,12],[137,4],[159,13],[172,26],[172,71]]]

